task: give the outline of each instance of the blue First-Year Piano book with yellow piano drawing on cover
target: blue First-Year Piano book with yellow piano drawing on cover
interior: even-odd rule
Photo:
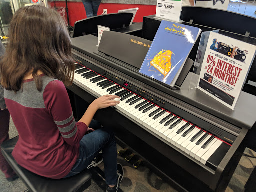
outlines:
[[[173,87],[200,32],[162,20],[139,72]]]

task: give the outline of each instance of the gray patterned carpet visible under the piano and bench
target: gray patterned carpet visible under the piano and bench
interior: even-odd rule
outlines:
[[[17,130],[10,120],[10,138],[18,135]],[[117,146],[117,151],[121,148]],[[250,156],[256,156],[256,152],[246,148],[244,153]],[[121,190],[123,192],[174,192],[173,187],[166,183],[162,178],[154,174],[145,166],[139,166],[138,169],[134,169],[132,164],[128,163],[123,157],[118,156],[118,162],[124,167],[124,179],[121,183]],[[242,156],[240,163],[238,164],[231,181],[226,188],[225,192],[240,192],[243,190],[246,181],[249,178],[253,168],[256,165],[256,159]],[[99,168],[103,170],[103,164],[99,165]],[[16,179],[13,182],[7,182],[4,174],[0,171],[0,192],[22,192],[27,187],[20,179]],[[102,190],[93,180],[91,186],[85,190],[86,192],[100,192]]]

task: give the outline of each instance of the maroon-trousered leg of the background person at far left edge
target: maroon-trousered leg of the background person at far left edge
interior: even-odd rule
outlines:
[[[0,145],[9,140],[9,123],[10,123],[10,113],[8,109],[0,109]],[[3,157],[0,152],[0,169],[5,174],[5,177],[8,181],[15,180],[17,177],[16,173],[10,167],[8,162]]]

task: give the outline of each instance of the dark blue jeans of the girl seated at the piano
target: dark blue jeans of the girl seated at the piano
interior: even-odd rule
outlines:
[[[117,184],[117,156],[116,143],[113,131],[92,120],[90,128],[95,131],[85,134],[80,141],[80,154],[70,173],[73,176],[87,168],[100,150],[103,153],[106,184]]]

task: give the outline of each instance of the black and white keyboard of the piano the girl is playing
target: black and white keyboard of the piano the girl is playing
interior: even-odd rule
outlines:
[[[213,170],[231,146],[78,63],[75,63],[74,82],[98,97],[118,95],[120,103],[116,109]]]

